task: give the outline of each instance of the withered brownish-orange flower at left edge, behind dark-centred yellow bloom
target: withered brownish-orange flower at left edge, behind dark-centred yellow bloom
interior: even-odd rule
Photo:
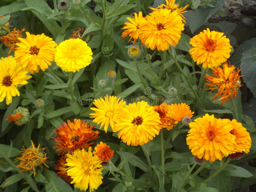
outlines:
[[[0,41],[10,49],[8,51],[8,55],[10,55],[12,51],[16,50],[15,44],[19,42],[18,38],[22,37],[22,32],[25,30],[25,28],[23,28],[21,31],[19,29],[14,28],[13,31],[10,31],[7,35],[0,37]]]

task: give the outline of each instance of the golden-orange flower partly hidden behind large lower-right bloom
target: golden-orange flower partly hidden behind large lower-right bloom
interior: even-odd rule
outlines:
[[[236,136],[234,152],[245,152],[248,154],[252,146],[252,138],[250,137],[250,133],[246,130],[245,127],[243,127],[241,123],[237,122],[235,119],[231,121],[231,124],[233,128],[231,134]]]

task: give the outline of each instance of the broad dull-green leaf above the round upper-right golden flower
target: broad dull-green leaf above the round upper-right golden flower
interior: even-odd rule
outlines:
[[[211,4],[212,6],[214,6],[214,8],[210,6],[206,8],[202,6],[200,8],[197,8],[191,17],[191,22],[189,23],[189,28],[191,32],[195,33],[196,29],[202,26],[202,24],[204,24],[205,21],[207,21],[207,19],[211,17],[211,15],[217,12],[224,3],[225,0],[213,0]]]

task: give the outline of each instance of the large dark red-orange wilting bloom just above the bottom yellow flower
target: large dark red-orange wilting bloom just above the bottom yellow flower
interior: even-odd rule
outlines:
[[[70,153],[78,148],[89,147],[92,140],[99,138],[99,131],[93,131],[94,125],[90,126],[81,119],[74,119],[74,123],[67,120],[57,128],[58,136],[53,137],[56,142],[59,155]]]

